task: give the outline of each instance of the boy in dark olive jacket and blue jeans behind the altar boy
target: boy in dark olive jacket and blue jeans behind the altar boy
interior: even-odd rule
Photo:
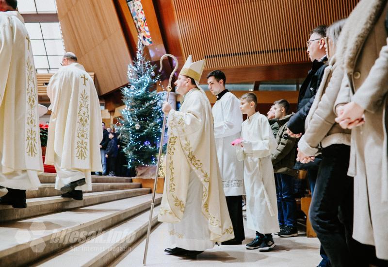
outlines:
[[[279,131],[275,138],[277,148],[271,154],[271,160],[276,180],[277,212],[280,226],[278,235],[281,237],[298,235],[295,218],[296,202],[293,197],[293,180],[296,176],[293,166],[297,138],[291,138],[287,134],[287,124],[291,117],[291,114],[287,115],[289,110],[290,103],[287,100],[275,101],[275,118],[279,124]]]

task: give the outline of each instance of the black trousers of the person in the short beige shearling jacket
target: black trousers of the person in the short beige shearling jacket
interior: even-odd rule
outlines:
[[[309,217],[331,266],[369,266],[353,234],[353,178],[347,176],[350,147],[323,148]]]

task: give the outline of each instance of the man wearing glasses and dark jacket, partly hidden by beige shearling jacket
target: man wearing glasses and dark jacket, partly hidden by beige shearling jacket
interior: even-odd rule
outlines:
[[[302,83],[299,90],[297,112],[290,118],[288,122],[288,134],[291,137],[300,137],[305,133],[305,120],[308,111],[315,98],[319,85],[322,81],[324,68],[327,67],[326,51],[324,48],[326,36],[326,25],[320,25],[310,32],[310,38],[307,40],[307,54],[312,61],[312,68],[308,72],[305,81]],[[316,159],[309,164],[296,163],[294,169],[307,169],[307,178],[310,184],[311,194],[314,192],[315,181],[317,180],[318,167],[322,158],[317,156]],[[321,246],[322,261],[320,267],[330,266],[330,262],[326,253]]]

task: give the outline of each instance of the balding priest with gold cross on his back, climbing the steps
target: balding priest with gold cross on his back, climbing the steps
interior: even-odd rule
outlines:
[[[101,111],[93,79],[77,57],[65,53],[47,87],[51,105],[45,163],[57,171],[55,189],[61,196],[82,200],[92,190],[92,171],[102,171],[99,144]]]

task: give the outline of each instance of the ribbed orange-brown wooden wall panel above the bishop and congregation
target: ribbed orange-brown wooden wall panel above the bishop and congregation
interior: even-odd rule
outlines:
[[[311,29],[347,17],[359,0],[172,0],[183,56],[206,69],[308,62]]]

